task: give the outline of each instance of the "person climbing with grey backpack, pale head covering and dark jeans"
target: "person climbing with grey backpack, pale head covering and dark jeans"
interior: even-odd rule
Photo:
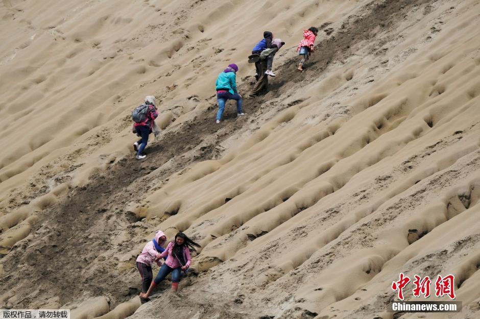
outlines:
[[[154,129],[155,119],[158,117],[157,107],[155,105],[155,96],[145,97],[145,101],[139,107],[132,111],[132,119],[134,132],[141,137],[140,140],[133,143],[133,149],[137,152],[136,158],[143,159],[147,157],[142,155],[143,150],[147,146],[148,137]]]

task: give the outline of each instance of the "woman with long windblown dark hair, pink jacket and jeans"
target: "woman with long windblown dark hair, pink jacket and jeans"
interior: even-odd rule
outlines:
[[[168,255],[157,276],[150,284],[147,293],[140,294],[140,297],[148,298],[152,294],[152,290],[170,273],[172,273],[172,290],[176,292],[181,272],[186,272],[190,267],[191,257],[189,249],[194,249],[194,247],[200,247],[200,245],[188,238],[184,233],[177,233],[175,241],[170,242],[166,246],[165,251],[156,257],[158,259]]]

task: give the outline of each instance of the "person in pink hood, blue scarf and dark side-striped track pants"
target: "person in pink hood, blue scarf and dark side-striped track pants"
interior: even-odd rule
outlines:
[[[148,242],[142,249],[136,259],[136,266],[141,276],[141,293],[145,294],[152,282],[152,261],[155,260],[158,266],[162,265],[160,254],[165,251],[162,247],[165,244],[166,236],[159,230],[155,233],[155,238]],[[141,299],[141,302],[148,300]]]

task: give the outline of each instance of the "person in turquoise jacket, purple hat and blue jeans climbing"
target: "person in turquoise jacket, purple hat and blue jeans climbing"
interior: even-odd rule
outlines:
[[[217,77],[215,82],[215,90],[217,90],[217,101],[219,103],[219,111],[217,112],[217,124],[222,119],[223,111],[225,110],[225,103],[227,100],[236,101],[237,116],[246,115],[242,112],[242,95],[238,94],[236,90],[236,72],[238,66],[231,63],[223,70]]]

